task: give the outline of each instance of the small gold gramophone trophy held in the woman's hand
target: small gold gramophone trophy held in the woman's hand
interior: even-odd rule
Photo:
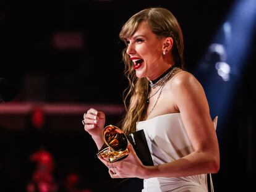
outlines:
[[[103,140],[104,144],[97,152],[98,157],[107,157],[112,163],[128,156],[128,140],[120,128],[114,125],[106,126],[103,130]]]

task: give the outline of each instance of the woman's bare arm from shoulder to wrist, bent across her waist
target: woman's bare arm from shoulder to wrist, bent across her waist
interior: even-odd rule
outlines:
[[[218,141],[202,86],[187,72],[177,75],[172,86],[176,107],[181,113],[194,152],[174,162],[147,167],[145,178],[182,177],[218,172]]]

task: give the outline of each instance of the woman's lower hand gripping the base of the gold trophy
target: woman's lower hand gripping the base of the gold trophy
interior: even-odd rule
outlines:
[[[111,178],[145,178],[147,167],[142,164],[134,151],[132,144],[128,144],[129,155],[121,161],[109,163],[106,159],[100,158],[109,169]]]

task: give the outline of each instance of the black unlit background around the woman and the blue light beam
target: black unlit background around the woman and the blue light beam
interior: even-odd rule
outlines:
[[[234,2],[0,1],[0,77],[17,89],[15,104],[121,105],[127,86],[121,58],[124,43],[118,38],[122,23],[147,7],[171,10],[184,34],[186,69],[193,72]],[[58,48],[54,38],[60,33],[79,34],[82,45]],[[213,175],[216,191],[255,190],[255,43],[220,127],[221,168]],[[59,186],[68,173],[75,172],[81,188],[108,191],[113,186],[122,191],[98,162],[96,147],[80,125],[82,114],[46,114],[42,130],[30,125],[31,112],[1,114],[1,121],[22,119],[23,124],[20,129],[1,124],[0,191],[25,191],[33,172],[28,157],[41,147],[53,154]],[[107,123],[116,124],[122,114],[107,117]],[[56,128],[60,123],[62,128]]]

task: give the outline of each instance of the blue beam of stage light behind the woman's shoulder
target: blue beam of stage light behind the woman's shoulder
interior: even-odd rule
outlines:
[[[256,1],[236,1],[194,72],[205,88],[211,115],[219,116],[219,127],[245,69],[251,42],[255,38],[255,24]]]

